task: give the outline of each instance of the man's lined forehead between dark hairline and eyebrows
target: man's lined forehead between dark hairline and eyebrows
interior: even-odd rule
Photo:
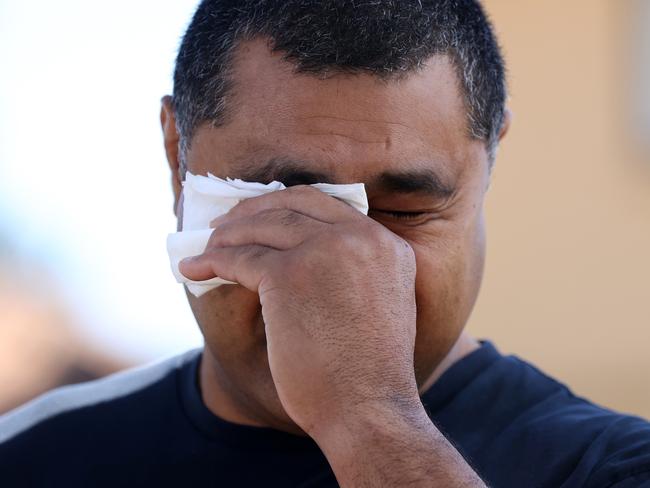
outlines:
[[[237,177],[238,168],[287,158],[340,182],[387,169],[432,169],[454,178],[484,152],[469,136],[446,56],[401,78],[317,76],[296,73],[282,53],[257,39],[237,48],[231,76],[227,122],[204,124],[192,141],[194,172]]]

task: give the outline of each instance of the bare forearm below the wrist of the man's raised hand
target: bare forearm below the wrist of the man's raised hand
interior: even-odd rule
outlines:
[[[421,407],[367,410],[315,439],[343,488],[486,486]]]

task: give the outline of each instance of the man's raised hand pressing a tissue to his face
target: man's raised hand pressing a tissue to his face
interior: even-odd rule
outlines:
[[[212,226],[204,253],[180,271],[259,295],[273,381],[305,432],[318,435],[366,407],[421,407],[406,241],[307,186],[244,200]]]

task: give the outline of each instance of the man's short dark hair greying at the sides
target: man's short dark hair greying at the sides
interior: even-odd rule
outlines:
[[[450,56],[469,135],[485,141],[492,162],[505,110],[505,67],[478,0],[203,0],[174,70],[181,158],[199,125],[226,123],[233,52],[257,37],[270,38],[297,72],[320,76],[399,77],[433,55]]]

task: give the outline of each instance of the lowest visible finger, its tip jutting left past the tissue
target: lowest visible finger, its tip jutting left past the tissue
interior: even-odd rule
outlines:
[[[264,276],[278,262],[279,253],[275,249],[257,245],[211,248],[198,256],[183,259],[178,269],[193,281],[218,276],[257,292]]]

